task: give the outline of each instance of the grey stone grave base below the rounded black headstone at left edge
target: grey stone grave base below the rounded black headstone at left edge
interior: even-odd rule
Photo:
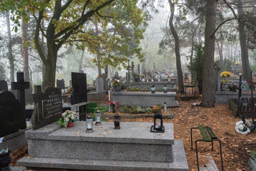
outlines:
[[[31,128],[29,128],[31,129]],[[29,130],[26,129],[26,130]],[[10,135],[6,135],[4,137],[4,140],[2,143],[0,143],[0,149],[4,148],[8,148],[8,150],[16,150],[19,147],[26,145],[27,144],[27,140],[25,138],[25,131],[26,130],[20,130],[19,132],[16,133],[12,133]]]

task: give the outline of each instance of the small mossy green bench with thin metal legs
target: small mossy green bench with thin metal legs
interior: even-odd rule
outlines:
[[[193,135],[192,135],[192,130],[193,129],[199,129],[200,133],[203,137],[203,139],[195,140],[195,152],[196,152],[196,160],[197,160],[197,163],[198,163],[198,171],[199,171],[199,162],[198,162],[198,142],[199,141],[212,142],[212,150],[213,150],[213,141],[218,141],[220,143],[220,159],[221,159],[221,168],[222,168],[222,171],[223,171],[221,141],[217,138],[215,133],[213,133],[213,129],[208,127],[208,126],[203,126],[203,125],[198,125],[198,127],[190,128],[191,150],[193,150]]]

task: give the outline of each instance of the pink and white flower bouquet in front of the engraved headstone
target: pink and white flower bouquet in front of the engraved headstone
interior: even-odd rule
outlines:
[[[66,112],[61,114],[61,118],[59,118],[58,123],[61,127],[73,127],[73,122],[77,120],[77,114],[71,110],[66,110]]]

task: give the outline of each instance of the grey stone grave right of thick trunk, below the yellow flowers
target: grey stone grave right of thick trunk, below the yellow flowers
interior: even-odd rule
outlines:
[[[250,98],[251,93],[242,93],[241,98]],[[253,93],[253,97],[256,97],[256,93]],[[228,100],[230,98],[238,98],[237,92],[230,92],[230,91],[215,91],[215,102],[228,104]]]

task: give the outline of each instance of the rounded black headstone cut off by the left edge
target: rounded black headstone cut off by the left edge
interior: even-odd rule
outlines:
[[[0,137],[26,128],[24,106],[8,90],[0,92]]]

